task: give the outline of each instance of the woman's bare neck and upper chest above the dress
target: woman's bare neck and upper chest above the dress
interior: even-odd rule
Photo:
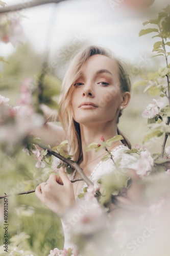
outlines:
[[[98,123],[93,125],[80,124],[81,131],[81,141],[82,141],[82,151],[83,151],[83,163],[86,165],[92,160],[103,155],[106,151],[102,148],[99,152],[95,150],[85,152],[85,148],[92,142],[102,143],[101,136],[104,137],[105,141],[117,135],[117,126],[113,121],[108,121],[106,123]],[[108,150],[122,143],[120,140],[113,142]]]

